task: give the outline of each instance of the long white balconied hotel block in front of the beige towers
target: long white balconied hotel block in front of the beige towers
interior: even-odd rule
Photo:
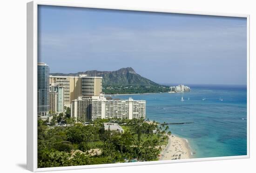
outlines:
[[[146,101],[131,98],[128,100],[107,99],[102,93],[90,98],[78,97],[72,101],[71,116],[77,121],[108,118],[145,119]]]

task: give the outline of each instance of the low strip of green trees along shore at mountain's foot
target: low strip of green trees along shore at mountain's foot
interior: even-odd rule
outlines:
[[[132,94],[132,93],[166,93],[170,91],[167,86],[143,86],[143,85],[108,85],[103,86],[105,94]]]

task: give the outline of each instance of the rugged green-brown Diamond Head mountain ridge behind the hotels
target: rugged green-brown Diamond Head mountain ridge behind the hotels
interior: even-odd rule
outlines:
[[[166,93],[169,87],[158,84],[142,77],[132,67],[121,68],[116,71],[91,70],[78,73],[51,73],[53,76],[88,76],[102,77],[102,92],[105,94],[140,94],[140,93]]]

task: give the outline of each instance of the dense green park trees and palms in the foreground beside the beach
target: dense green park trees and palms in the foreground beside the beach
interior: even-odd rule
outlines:
[[[53,122],[57,120],[56,116]],[[72,119],[65,116],[64,120]],[[105,130],[103,122],[120,124],[124,133]],[[168,142],[167,131],[168,126],[142,119],[98,119],[89,125],[67,126],[47,126],[38,120],[38,167],[157,160],[161,145]],[[94,150],[100,152],[94,154]]]

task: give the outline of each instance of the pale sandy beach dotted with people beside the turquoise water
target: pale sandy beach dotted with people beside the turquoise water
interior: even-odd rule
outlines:
[[[168,144],[162,150],[159,160],[178,160],[192,158],[191,149],[185,139],[170,135]]]

